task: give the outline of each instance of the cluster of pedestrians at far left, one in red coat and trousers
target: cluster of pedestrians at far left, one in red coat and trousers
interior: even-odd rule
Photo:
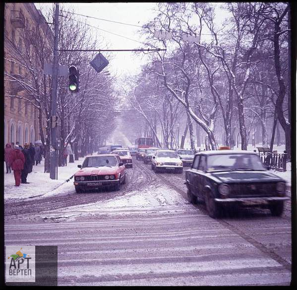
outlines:
[[[35,163],[35,165],[41,163],[42,154],[42,146],[34,146],[32,143],[25,143],[24,147],[18,142],[5,145],[6,173],[11,173],[11,170],[13,170],[15,186],[19,186],[20,183],[29,183],[27,182],[28,173],[32,172]]]

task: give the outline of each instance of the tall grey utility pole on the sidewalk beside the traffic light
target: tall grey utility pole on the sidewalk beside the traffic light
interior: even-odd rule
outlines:
[[[50,145],[50,178],[56,179],[57,167],[57,127],[53,126],[53,117],[57,115],[57,87],[58,87],[58,39],[59,39],[59,3],[55,9],[55,36],[54,36],[54,66],[52,79],[52,114],[51,114],[51,145]],[[58,178],[58,176],[57,176]]]

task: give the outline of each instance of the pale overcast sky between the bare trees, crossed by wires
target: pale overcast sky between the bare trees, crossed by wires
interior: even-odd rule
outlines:
[[[38,9],[51,9],[53,3],[35,3]],[[131,3],[62,3],[65,7],[73,7],[75,13],[103,18],[128,24],[142,26],[144,23],[153,19],[155,13],[152,8],[156,7],[156,2],[131,2]],[[84,17],[81,17],[85,19]],[[125,36],[127,38],[141,41],[141,35],[137,33],[140,27],[128,26],[103,20],[86,18],[87,23],[100,29]],[[97,29],[94,29],[97,30]],[[110,49],[135,49],[144,45],[105,31],[98,32],[105,38]],[[98,47],[100,49],[100,47]],[[104,53],[103,53],[104,55]],[[145,57],[141,59],[133,52],[114,52],[114,59],[105,70],[135,74],[139,72],[141,64],[145,63]]]

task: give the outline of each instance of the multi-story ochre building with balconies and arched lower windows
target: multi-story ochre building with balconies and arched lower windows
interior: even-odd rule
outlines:
[[[4,144],[34,144],[40,139],[37,99],[44,78],[43,54],[51,58],[53,41],[53,33],[34,3],[5,3]],[[45,129],[45,116],[42,124]]]

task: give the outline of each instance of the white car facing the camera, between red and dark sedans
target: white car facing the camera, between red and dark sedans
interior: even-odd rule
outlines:
[[[174,170],[182,173],[182,162],[176,151],[160,149],[152,156],[152,169],[156,173],[161,170]]]

